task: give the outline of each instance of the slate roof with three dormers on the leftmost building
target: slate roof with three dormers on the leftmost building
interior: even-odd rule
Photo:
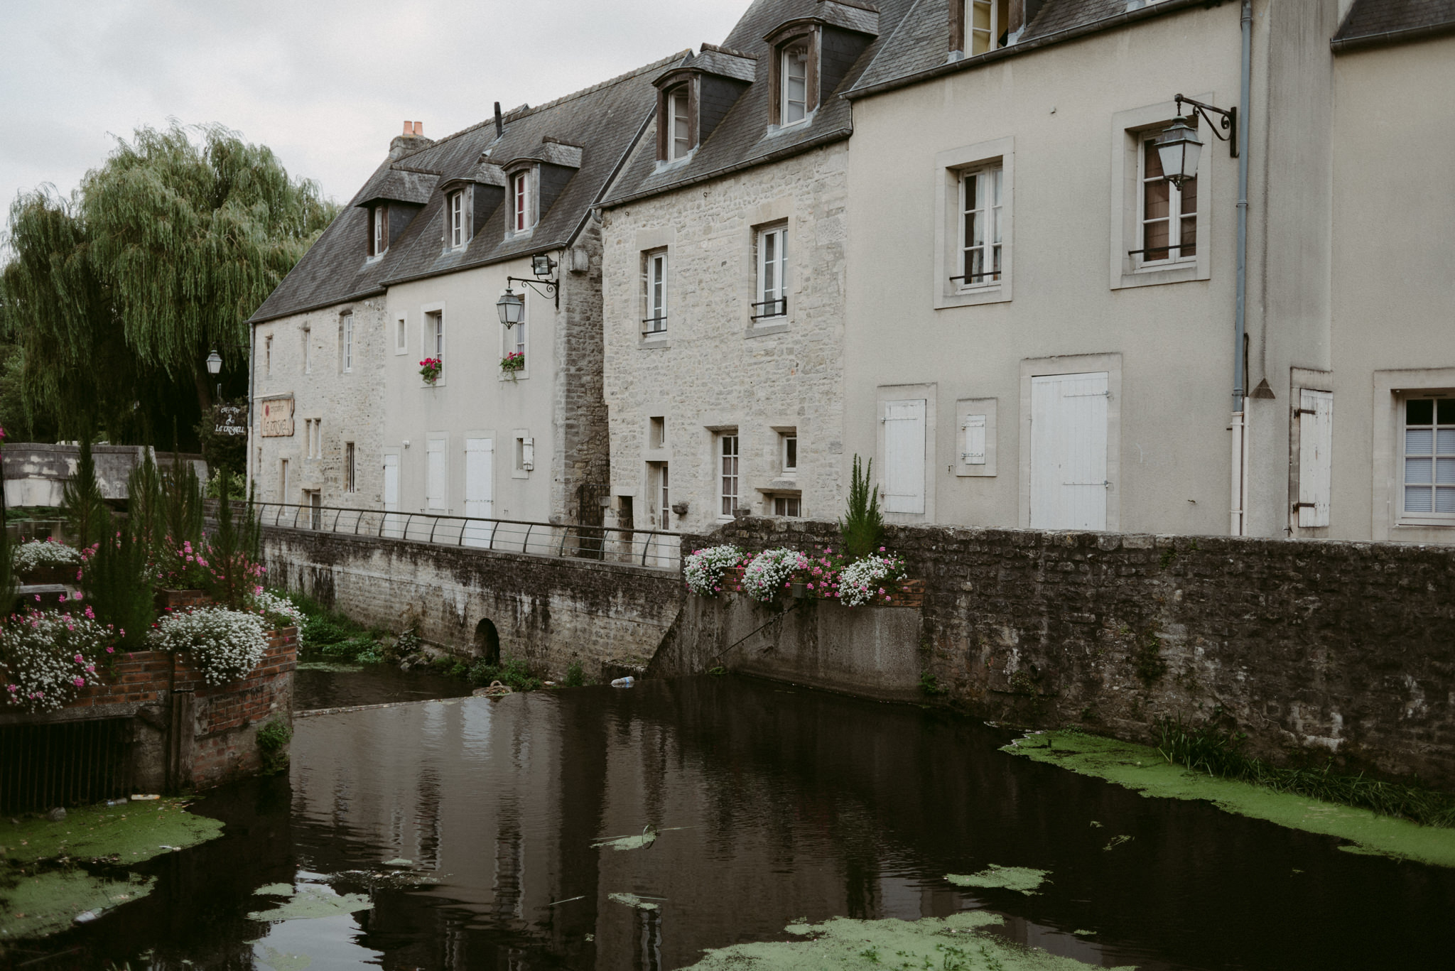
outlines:
[[[569,246],[656,111],[652,79],[665,67],[681,63],[685,54],[674,54],[547,105],[515,109],[505,115],[503,138],[496,138],[492,118],[394,162],[386,160],[253,313],[250,322],[362,298],[406,280]],[[489,157],[482,157],[486,151]],[[444,183],[470,178],[501,185],[503,178],[499,175],[499,163],[576,154],[581,156],[581,167],[550,211],[541,214],[531,236],[505,239],[509,207],[501,204],[469,246],[455,252],[444,250],[444,192],[439,191]],[[410,192],[413,195],[404,195]],[[361,208],[361,204],[375,198],[423,201],[425,208],[381,259],[370,262],[365,255],[368,210]]]

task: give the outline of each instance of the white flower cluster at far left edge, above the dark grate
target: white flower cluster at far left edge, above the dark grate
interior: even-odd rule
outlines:
[[[0,693],[28,712],[54,712],[87,684],[99,683],[96,665],[115,651],[111,641],[111,629],[87,616],[16,614],[0,629]]]

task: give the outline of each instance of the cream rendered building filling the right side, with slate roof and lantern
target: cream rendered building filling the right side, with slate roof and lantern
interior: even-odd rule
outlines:
[[[917,3],[844,95],[844,453],[874,457],[888,518],[1446,536],[1455,488],[1442,512],[1410,477],[1439,475],[1438,406],[1400,402],[1455,384],[1449,194],[1395,153],[1449,146],[1426,128],[1455,103],[1452,22],[1401,0]],[[1180,188],[1157,148],[1177,116],[1202,143]]]

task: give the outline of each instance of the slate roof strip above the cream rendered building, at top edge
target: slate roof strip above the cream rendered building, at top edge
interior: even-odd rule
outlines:
[[[860,98],[876,90],[969,70],[986,60],[1014,57],[1049,42],[1071,39],[1099,29],[1163,16],[1192,6],[1206,6],[1206,0],[1161,0],[1136,10],[1128,10],[1126,0],[1046,0],[1021,31],[1016,44],[952,63],[949,61],[952,1],[918,0],[893,35],[883,42],[873,64],[847,90],[847,98]]]

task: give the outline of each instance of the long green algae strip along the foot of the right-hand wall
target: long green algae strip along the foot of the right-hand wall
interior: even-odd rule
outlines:
[[[1225,812],[1333,836],[1350,843],[1340,847],[1350,853],[1455,868],[1455,830],[1195,773],[1170,764],[1147,745],[1080,732],[1045,732],[1018,738],[1001,751],[1106,779],[1144,796],[1206,801]]]

